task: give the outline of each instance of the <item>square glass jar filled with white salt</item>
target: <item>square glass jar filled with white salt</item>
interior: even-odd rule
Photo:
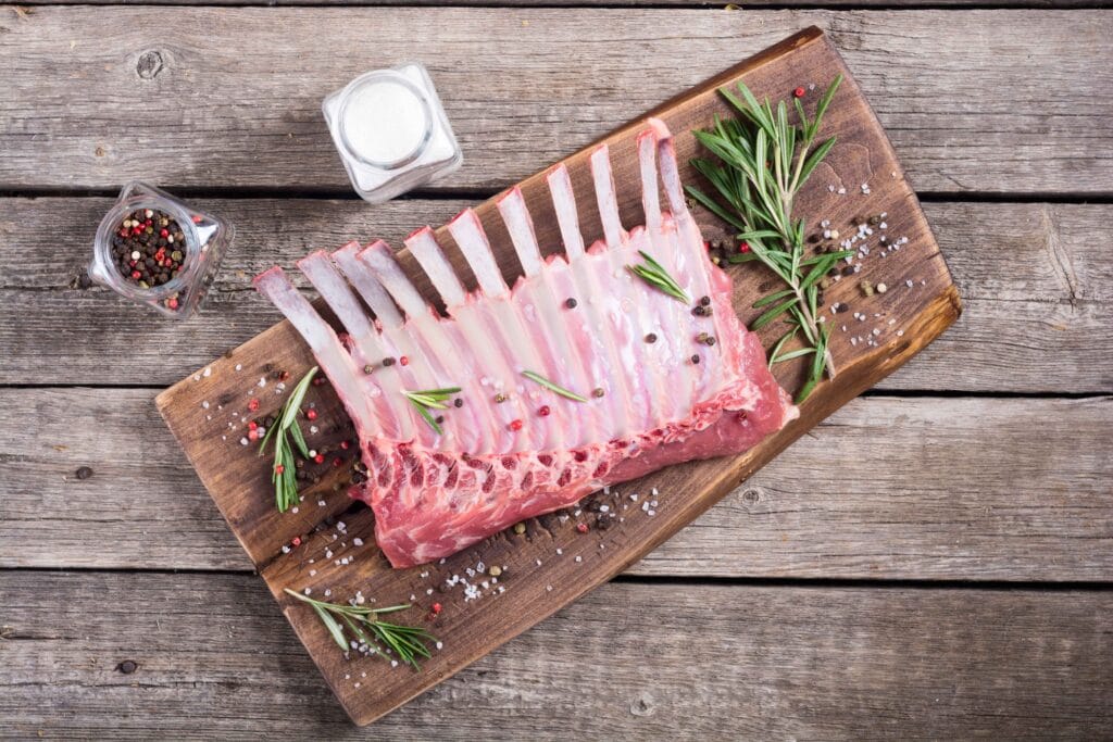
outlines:
[[[352,186],[372,204],[447,175],[463,160],[417,62],[361,75],[325,98],[322,110]]]

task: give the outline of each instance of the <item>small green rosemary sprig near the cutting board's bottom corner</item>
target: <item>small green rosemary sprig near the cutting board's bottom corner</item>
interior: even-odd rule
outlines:
[[[361,649],[366,646],[368,652],[384,659],[388,660],[388,654],[394,654],[414,670],[421,670],[421,665],[417,664],[418,656],[425,659],[433,656],[430,654],[429,647],[425,646],[425,642],[436,642],[433,634],[420,626],[402,626],[378,619],[384,613],[405,611],[410,607],[408,603],[391,605],[385,609],[372,609],[362,605],[315,601],[289,587],[286,587],[286,594],[312,605],[321,622],[328,629],[333,640],[344,652],[351,651],[349,642],[355,641]],[[344,633],[345,629],[352,632],[351,640]],[[386,652],[380,647],[381,644],[386,647]]]

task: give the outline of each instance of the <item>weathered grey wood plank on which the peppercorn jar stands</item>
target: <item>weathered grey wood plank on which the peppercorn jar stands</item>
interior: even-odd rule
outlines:
[[[109,199],[0,199],[0,347],[7,352],[0,384],[170,384],[279,318],[250,288],[255,274],[353,237],[397,245],[413,227],[442,224],[469,204],[198,200],[229,218],[239,238],[210,304],[179,326],[104,289],[73,288]],[[1113,206],[937,202],[924,210],[958,284],[963,316],[878,388],[1113,392]],[[24,228],[43,214],[78,239],[59,244],[52,234]],[[27,259],[47,253],[50,261]]]

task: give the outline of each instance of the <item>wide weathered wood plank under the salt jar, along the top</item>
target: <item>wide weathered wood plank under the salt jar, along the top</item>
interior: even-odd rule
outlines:
[[[145,176],[348,192],[321,100],[413,57],[414,39],[465,152],[439,187],[500,188],[812,23],[918,189],[1110,192],[1100,10],[164,8],[151,22],[79,6],[0,16],[0,189]],[[334,37],[373,52],[337,53]],[[136,126],[137,108],[160,115]]]

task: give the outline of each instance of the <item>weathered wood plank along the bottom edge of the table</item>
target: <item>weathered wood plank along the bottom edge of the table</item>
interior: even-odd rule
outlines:
[[[1107,592],[610,584],[363,731],[257,578],[4,572],[0,594],[0,736],[1113,734]],[[348,682],[408,672],[366,663]]]

